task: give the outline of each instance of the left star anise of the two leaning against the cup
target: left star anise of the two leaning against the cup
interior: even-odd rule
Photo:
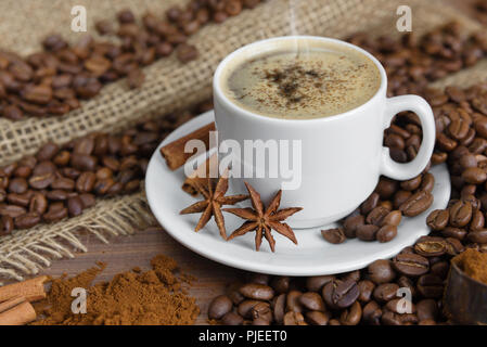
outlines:
[[[205,200],[194,203],[193,205],[181,210],[179,214],[188,215],[203,213],[194,231],[200,231],[212,219],[212,216],[214,216],[221,237],[227,240],[227,230],[225,229],[225,219],[223,215],[221,214],[221,206],[234,205],[239,202],[247,200],[248,195],[239,194],[225,196],[228,190],[228,170],[220,176],[216,185],[215,181],[209,177],[207,179],[206,187],[204,187],[200,182],[196,182],[195,185],[196,190],[203,195]]]

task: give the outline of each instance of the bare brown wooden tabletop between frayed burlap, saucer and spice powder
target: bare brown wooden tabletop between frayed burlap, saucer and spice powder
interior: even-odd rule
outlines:
[[[446,0],[446,2],[456,5],[464,13],[472,13],[469,4],[473,0]],[[209,300],[223,293],[228,283],[243,277],[243,271],[222,266],[187,249],[161,228],[140,230],[132,236],[112,237],[110,244],[100,242],[93,235],[82,235],[81,241],[88,246],[88,253],[76,254],[73,259],[55,260],[43,273],[53,277],[62,273],[74,275],[100,260],[106,262],[107,267],[99,275],[98,281],[107,281],[115,273],[130,270],[136,266],[149,269],[150,260],[158,254],[164,254],[175,258],[183,271],[197,278],[190,291],[201,309],[197,324],[207,323]]]

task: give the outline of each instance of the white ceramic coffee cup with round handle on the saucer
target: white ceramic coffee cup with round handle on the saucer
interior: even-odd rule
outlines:
[[[379,68],[381,86],[364,104],[342,114],[312,119],[281,119],[252,113],[233,103],[222,90],[228,70],[253,56],[292,44],[339,44],[367,55]],[[215,119],[218,141],[300,140],[302,182],[283,191],[281,206],[304,209],[289,219],[293,228],[311,228],[336,221],[354,211],[375,189],[381,175],[411,179],[426,167],[435,144],[435,121],[427,102],[418,95],[386,98],[387,76],[381,63],[367,51],[336,39],[291,36],[261,40],[228,55],[214,76]],[[416,157],[407,164],[394,162],[383,146],[384,129],[399,112],[412,111],[421,119],[423,141]],[[245,160],[240,160],[245,166]],[[243,171],[243,169],[242,169]],[[234,190],[245,192],[251,183],[268,203],[289,178],[233,178]]]

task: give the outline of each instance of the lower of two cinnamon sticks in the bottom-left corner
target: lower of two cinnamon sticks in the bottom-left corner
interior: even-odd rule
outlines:
[[[36,318],[36,310],[25,297],[13,297],[0,304],[0,325],[24,325]]]

